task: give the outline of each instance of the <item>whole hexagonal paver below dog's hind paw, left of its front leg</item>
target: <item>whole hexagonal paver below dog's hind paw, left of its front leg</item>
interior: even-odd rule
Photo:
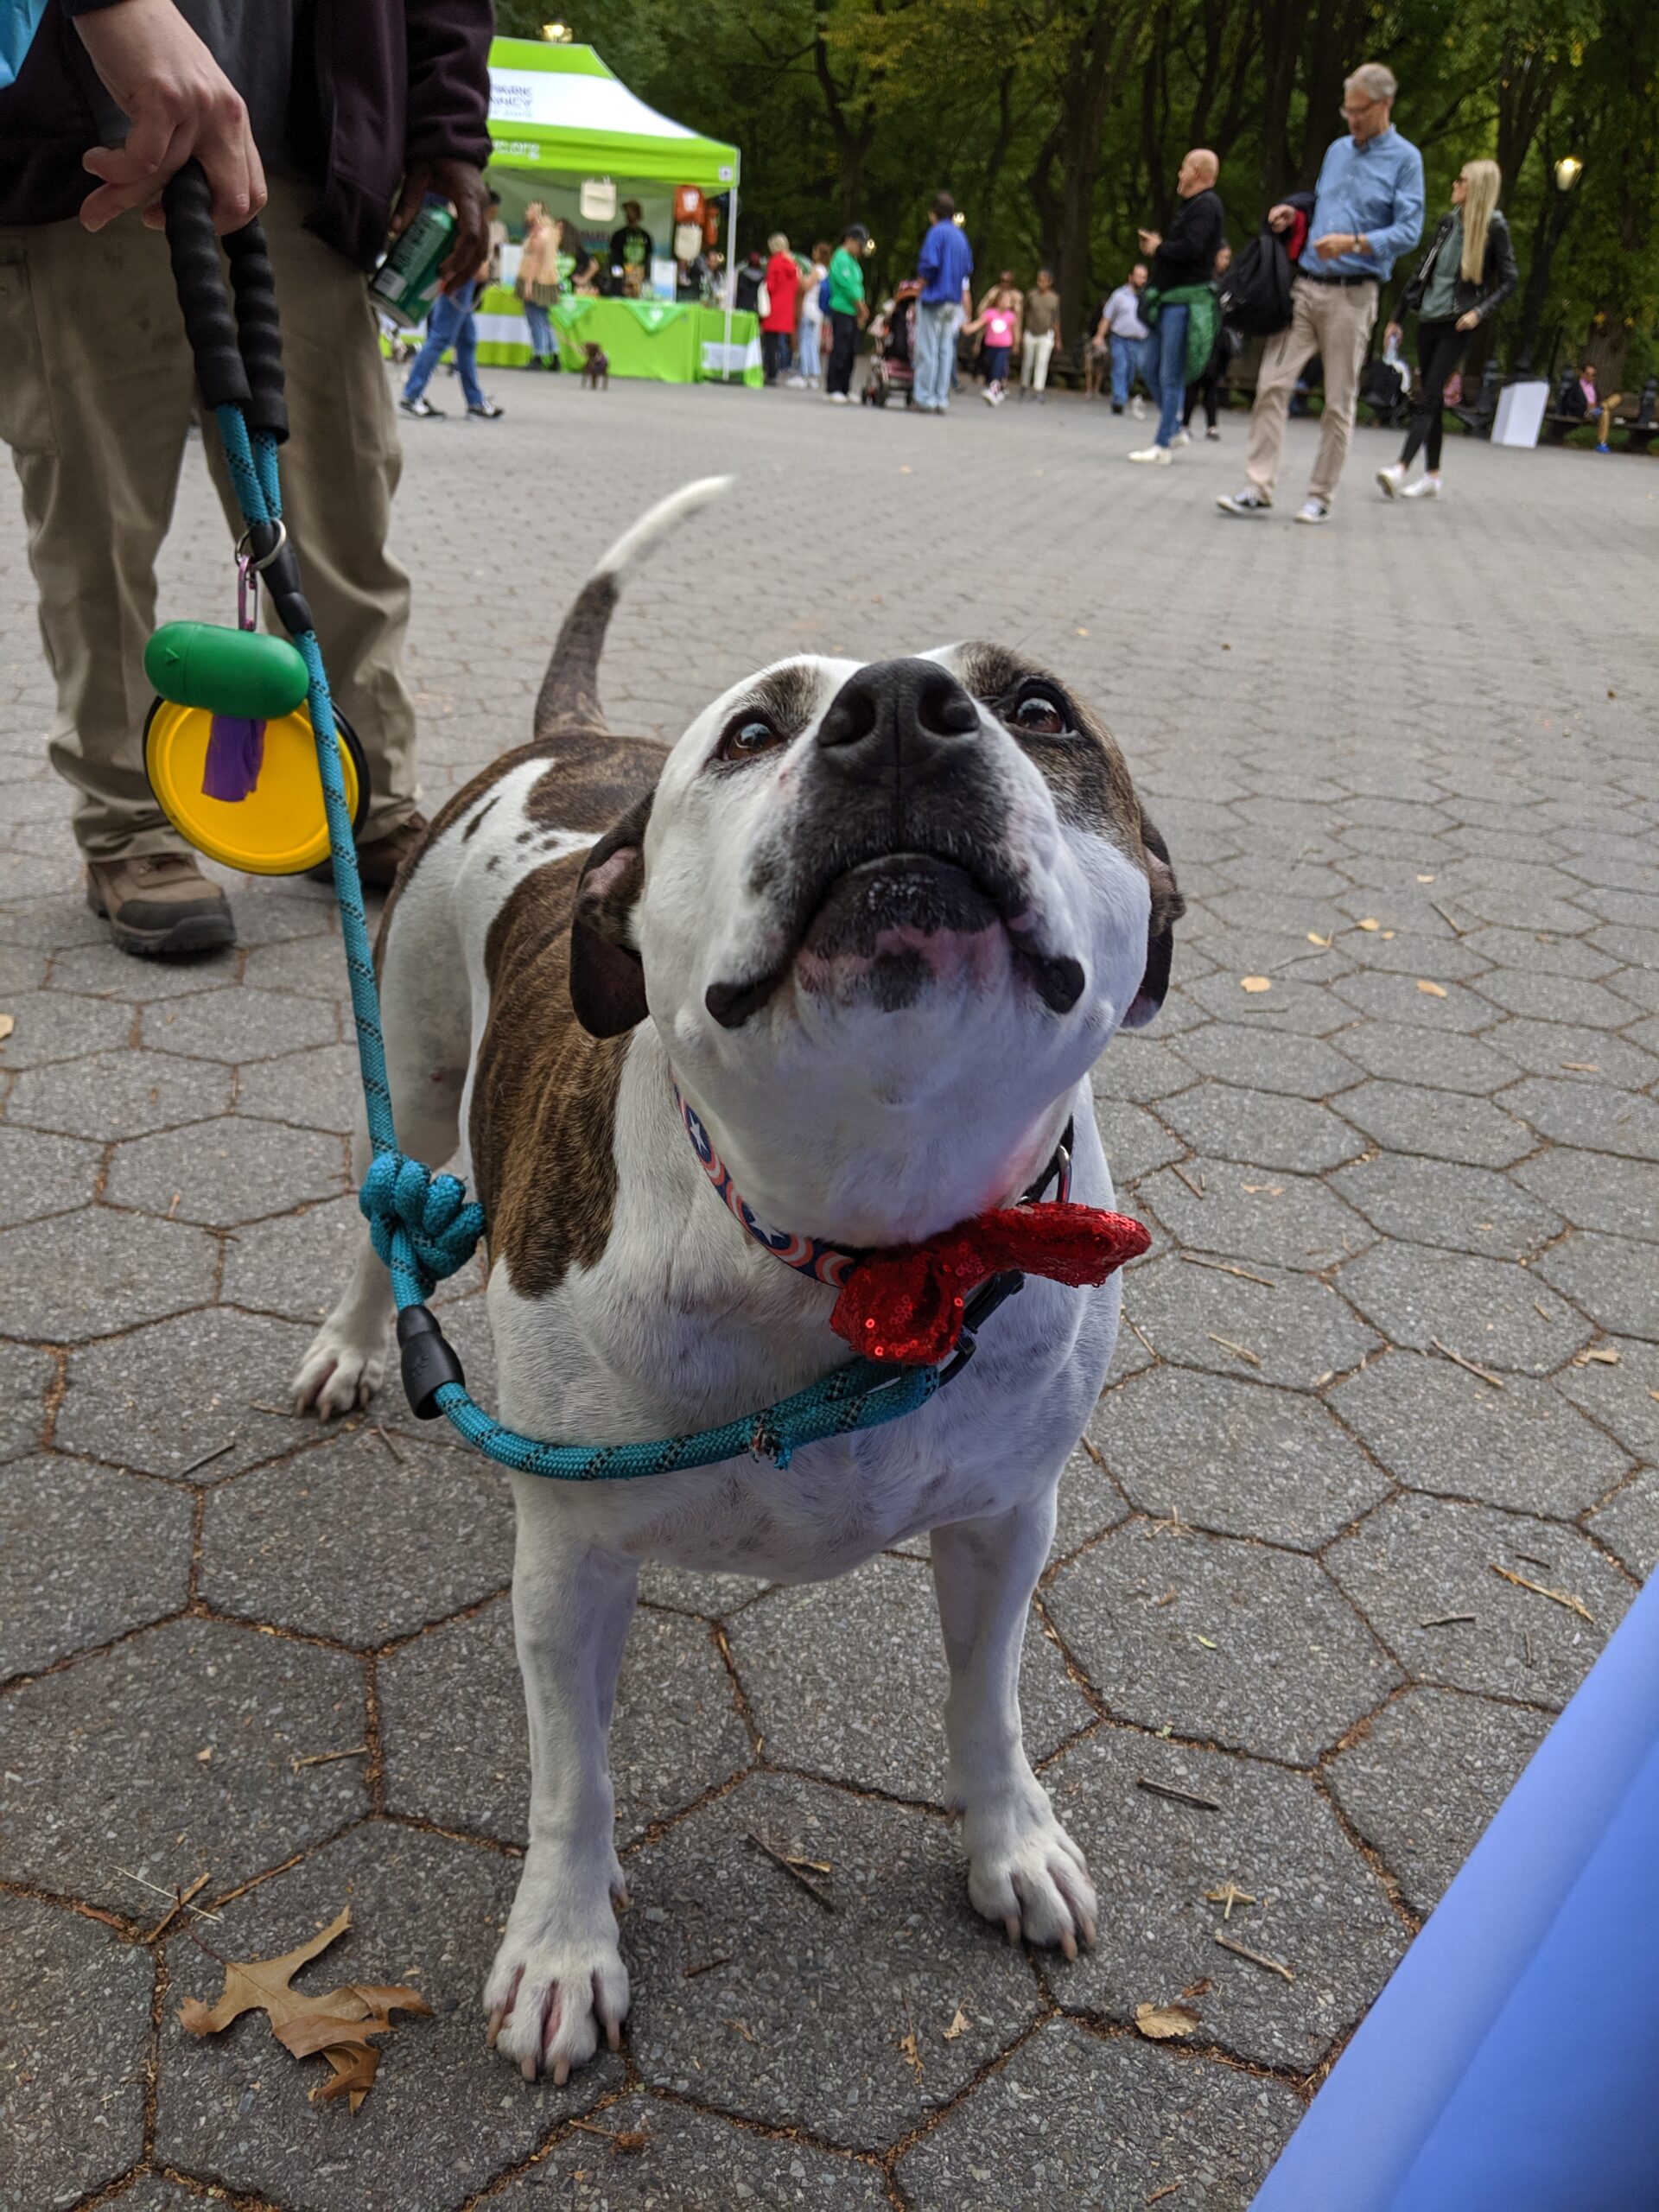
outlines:
[[[226,1482],[201,1524],[199,1588],[217,1613],[365,1648],[489,1597],[511,1573],[500,1471],[407,1431],[358,1429]]]

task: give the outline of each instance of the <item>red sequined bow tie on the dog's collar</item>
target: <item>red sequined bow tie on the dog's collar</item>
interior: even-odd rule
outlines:
[[[830,1327],[865,1358],[927,1367],[956,1352],[969,1294],[993,1274],[1104,1283],[1150,1241],[1139,1221],[1099,1206],[1002,1206],[927,1243],[860,1259]]]

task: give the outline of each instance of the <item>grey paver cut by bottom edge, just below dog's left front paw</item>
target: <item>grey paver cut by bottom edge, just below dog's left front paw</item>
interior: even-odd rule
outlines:
[[[611,2135],[613,2141],[602,2141]],[[624,2141],[617,2143],[615,2137]],[[489,2212],[887,2212],[887,2177],[872,2159],[818,2150],[787,2135],[737,2128],[668,2097],[624,2097],[487,2201]],[[480,2208],[482,2212],[482,2208]]]

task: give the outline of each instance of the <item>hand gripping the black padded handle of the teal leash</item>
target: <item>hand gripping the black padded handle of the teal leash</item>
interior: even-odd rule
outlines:
[[[119,0],[75,18],[104,86],[131,117],[124,146],[91,146],[82,166],[102,184],[80,219],[88,230],[144,208],[161,228],[161,186],[195,155],[212,186],[212,228],[239,230],[265,206],[265,168],[248,108],[173,0]]]

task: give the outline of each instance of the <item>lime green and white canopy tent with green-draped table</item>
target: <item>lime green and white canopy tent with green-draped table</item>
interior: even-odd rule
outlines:
[[[566,217],[588,248],[604,250],[613,223],[593,226],[580,215],[584,181],[615,186],[615,221],[622,204],[637,199],[646,230],[668,241],[675,186],[732,195],[732,226],[726,257],[723,310],[659,299],[566,299],[551,314],[562,352],[580,358],[582,341],[595,338],[619,376],[655,376],[670,383],[737,376],[759,383],[759,336],[754,316],[737,314],[732,285],[737,270],[730,234],[737,226],[739,153],[701,137],[686,124],[657,115],[615,77],[593,46],[542,44],[529,38],[498,38],[489,49],[489,135],[493,153],[489,181],[502,195],[502,217],[518,230],[524,208],[540,199]],[[480,301],[480,358],[495,365],[529,358],[520,301],[493,288]]]

